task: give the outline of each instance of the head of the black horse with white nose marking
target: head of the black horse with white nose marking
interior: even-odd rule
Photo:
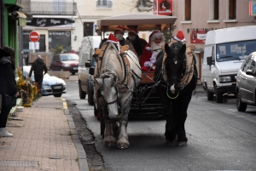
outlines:
[[[165,51],[167,57],[164,65],[166,66],[168,88],[171,90],[172,94],[177,94],[180,90],[179,83],[183,75],[185,56],[183,54],[186,52],[186,45],[177,42],[172,43],[169,47],[168,44],[166,44]]]

